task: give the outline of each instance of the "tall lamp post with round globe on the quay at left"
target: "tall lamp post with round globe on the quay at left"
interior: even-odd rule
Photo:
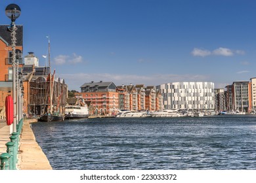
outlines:
[[[15,25],[15,20],[20,16],[21,10],[20,7],[16,4],[10,4],[5,8],[5,14],[8,18],[11,19],[11,25],[9,25],[9,30],[11,31],[11,46],[12,46],[12,98],[14,104],[14,120],[13,120],[13,128],[12,131],[16,132],[16,125],[18,120],[18,113],[17,113],[17,93],[16,93],[16,86],[18,76],[16,76],[16,69],[18,70],[18,62],[16,61],[16,30],[17,27]],[[17,67],[17,68],[16,68]]]

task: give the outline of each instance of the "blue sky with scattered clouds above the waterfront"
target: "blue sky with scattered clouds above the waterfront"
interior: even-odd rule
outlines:
[[[256,77],[256,1],[44,0],[0,1],[20,6],[24,56],[51,68],[69,90],[85,82],[159,85],[214,82],[224,88]]]

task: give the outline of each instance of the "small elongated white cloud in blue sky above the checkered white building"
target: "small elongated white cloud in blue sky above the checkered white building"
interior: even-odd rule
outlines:
[[[209,51],[209,50],[203,50],[200,48],[194,48],[194,50],[191,52],[191,54],[193,56],[201,56],[201,57],[205,57],[205,56],[211,56],[211,55],[215,55],[215,56],[234,56],[234,54],[239,54],[239,55],[243,55],[245,54],[244,50],[231,50],[229,48],[217,48],[213,51]]]

